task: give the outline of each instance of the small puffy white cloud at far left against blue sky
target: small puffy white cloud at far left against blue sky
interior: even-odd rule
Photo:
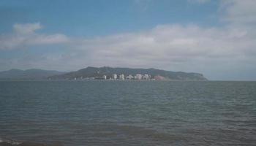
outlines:
[[[30,45],[52,45],[68,42],[64,34],[40,34],[36,31],[42,28],[40,23],[13,25],[11,34],[0,35],[0,50],[11,50]]]

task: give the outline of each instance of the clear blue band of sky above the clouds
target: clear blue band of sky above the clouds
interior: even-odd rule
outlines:
[[[47,33],[98,36],[140,31],[166,23],[218,25],[219,3],[170,0],[1,1],[1,32],[14,23],[40,22]]]

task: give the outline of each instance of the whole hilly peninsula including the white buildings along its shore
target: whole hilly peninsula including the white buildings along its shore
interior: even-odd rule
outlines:
[[[121,67],[92,67],[66,74],[53,75],[48,80],[207,80],[194,72],[171,72],[162,69],[131,69]]]

